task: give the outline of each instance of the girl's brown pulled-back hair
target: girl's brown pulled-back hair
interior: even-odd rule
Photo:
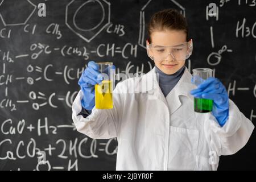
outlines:
[[[151,34],[153,31],[162,31],[165,28],[169,30],[183,30],[187,34],[188,41],[188,24],[184,16],[175,9],[166,9],[158,11],[151,16],[148,23],[148,42],[151,43]]]

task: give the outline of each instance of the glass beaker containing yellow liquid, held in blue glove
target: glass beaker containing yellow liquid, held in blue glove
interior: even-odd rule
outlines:
[[[100,84],[95,85],[95,107],[96,109],[113,109],[113,90],[115,69],[113,63],[97,63],[99,65],[98,79],[102,80]]]

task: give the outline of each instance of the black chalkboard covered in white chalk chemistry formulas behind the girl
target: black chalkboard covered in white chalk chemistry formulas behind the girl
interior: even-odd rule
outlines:
[[[117,140],[75,130],[77,81],[89,60],[113,61],[117,73],[150,71],[146,23],[166,8],[188,20],[194,47],[188,69],[214,69],[255,123],[255,1],[49,0],[40,16],[41,2],[0,1],[1,170],[114,170]],[[253,133],[237,154],[221,156],[218,169],[256,169],[255,142]]]

